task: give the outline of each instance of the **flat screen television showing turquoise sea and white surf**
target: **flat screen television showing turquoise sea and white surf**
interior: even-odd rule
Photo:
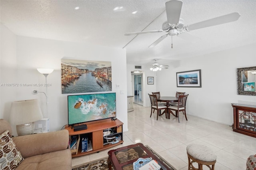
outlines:
[[[116,93],[68,95],[68,125],[116,117]]]

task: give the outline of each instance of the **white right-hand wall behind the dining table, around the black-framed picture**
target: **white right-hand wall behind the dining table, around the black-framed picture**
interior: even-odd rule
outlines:
[[[189,94],[187,115],[232,125],[231,103],[256,104],[256,96],[237,95],[236,83],[237,68],[256,66],[256,44],[181,59],[169,65],[169,69],[157,72],[156,91],[167,96],[174,96],[176,91]],[[176,72],[195,69],[201,69],[202,88],[177,87]]]

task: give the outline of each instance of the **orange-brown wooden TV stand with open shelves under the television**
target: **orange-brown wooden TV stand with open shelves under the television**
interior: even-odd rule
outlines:
[[[92,122],[87,122],[84,123],[87,125],[86,130],[78,130],[74,131],[74,128],[71,126],[66,125],[65,129],[68,130],[70,136],[77,136],[78,137],[78,143],[76,145],[75,150],[71,150],[72,157],[77,157],[77,156],[82,156],[82,155],[87,155],[91,154],[94,152],[99,152],[101,150],[105,150],[108,148],[111,148],[113,146],[116,146],[118,144],[122,144],[123,141],[123,127],[122,123],[120,120],[112,120],[112,119],[104,119],[104,120],[99,120],[99,121],[92,121]],[[115,144],[104,144],[103,140],[103,130],[111,128],[114,130],[113,134],[114,136],[121,136],[121,140],[119,140],[118,143]],[[92,151],[87,151],[87,152],[81,152],[82,150],[82,144],[81,144],[81,138],[80,136],[86,134],[88,136],[88,140],[91,140],[92,143]]]

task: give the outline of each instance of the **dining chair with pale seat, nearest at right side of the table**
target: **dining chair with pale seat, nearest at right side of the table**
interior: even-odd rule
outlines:
[[[175,111],[174,116],[178,117],[178,121],[180,123],[179,112],[181,112],[181,111],[182,111],[183,115],[185,115],[186,120],[188,121],[187,116],[186,116],[186,102],[187,102],[188,95],[180,95],[178,98],[179,98],[178,105],[173,105],[173,106],[168,107],[168,119],[170,119],[170,113],[172,113],[172,115],[174,115],[172,111]]]

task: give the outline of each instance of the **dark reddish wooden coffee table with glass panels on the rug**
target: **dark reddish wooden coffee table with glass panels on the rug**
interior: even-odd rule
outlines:
[[[138,158],[151,158],[158,162],[161,170],[171,170],[142,143],[108,151],[108,169],[111,170],[113,166],[115,170],[133,170],[133,162],[136,162]]]

